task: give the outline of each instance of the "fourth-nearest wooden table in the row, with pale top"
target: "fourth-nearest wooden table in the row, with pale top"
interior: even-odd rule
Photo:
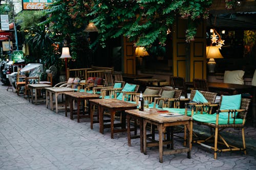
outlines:
[[[74,91],[72,88],[67,87],[46,87],[46,107],[48,108],[48,93],[50,96],[50,108],[53,110],[53,94],[55,94],[55,111],[58,113],[58,95],[68,91]]]

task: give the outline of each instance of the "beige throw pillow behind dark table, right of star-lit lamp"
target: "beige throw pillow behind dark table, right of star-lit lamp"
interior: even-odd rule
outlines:
[[[243,76],[243,70],[225,71],[224,83],[244,84]]]

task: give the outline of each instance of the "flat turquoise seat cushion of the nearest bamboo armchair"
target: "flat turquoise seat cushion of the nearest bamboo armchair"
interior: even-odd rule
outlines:
[[[215,114],[194,114],[193,120],[196,120],[197,122],[204,122],[204,123],[211,123],[216,124],[216,113]],[[219,125],[227,125],[228,119],[227,118],[219,118]],[[229,119],[229,123],[233,123],[233,119]],[[243,119],[236,118],[235,124],[242,124]]]

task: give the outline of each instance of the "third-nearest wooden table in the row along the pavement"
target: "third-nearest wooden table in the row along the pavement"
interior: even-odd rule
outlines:
[[[99,99],[99,95],[87,93],[87,92],[65,92],[65,116],[68,116],[68,99],[70,103],[70,118],[73,120],[73,101],[76,100],[77,102],[77,122],[80,122],[80,118],[90,117],[90,115],[84,115],[84,107],[83,107],[83,114],[80,114],[80,104],[84,104],[84,101],[89,99]],[[88,113],[90,114],[90,107],[88,110]]]

